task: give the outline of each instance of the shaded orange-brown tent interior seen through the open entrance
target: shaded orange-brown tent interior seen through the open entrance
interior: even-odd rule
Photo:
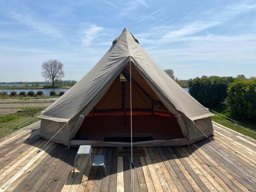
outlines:
[[[167,110],[133,65],[132,124],[135,142],[184,138],[176,116]],[[84,118],[76,139],[130,142],[130,137],[130,66],[127,65]]]

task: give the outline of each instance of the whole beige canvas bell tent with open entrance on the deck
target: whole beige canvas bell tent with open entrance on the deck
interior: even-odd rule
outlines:
[[[130,146],[130,91],[134,146],[185,145],[212,134],[213,114],[124,29],[87,75],[42,111],[39,135],[58,132],[52,140],[68,146]]]

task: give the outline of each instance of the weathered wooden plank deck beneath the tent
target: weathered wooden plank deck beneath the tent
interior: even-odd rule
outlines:
[[[0,139],[0,191],[130,191],[129,157],[116,157],[115,148],[94,148],[107,159],[91,168],[80,158],[70,174],[77,148],[49,143],[36,136],[39,123]],[[136,157],[134,191],[256,191],[256,141],[214,123],[214,143],[191,147],[147,147]],[[250,183],[240,170],[253,181]]]

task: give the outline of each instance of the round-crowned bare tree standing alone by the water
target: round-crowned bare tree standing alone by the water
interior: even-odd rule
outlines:
[[[52,81],[52,86],[54,86],[54,81],[60,80],[65,76],[63,72],[63,64],[56,59],[49,59],[42,63],[42,76],[46,80]]]

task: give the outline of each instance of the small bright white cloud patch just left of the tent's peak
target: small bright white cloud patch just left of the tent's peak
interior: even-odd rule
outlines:
[[[83,29],[83,33],[81,37],[82,45],[89,47],[92,41],[98,37],[99,32],[102,31],[103,29],[104,29],[103,27],[97,26],[95,24],[87,25]]]

